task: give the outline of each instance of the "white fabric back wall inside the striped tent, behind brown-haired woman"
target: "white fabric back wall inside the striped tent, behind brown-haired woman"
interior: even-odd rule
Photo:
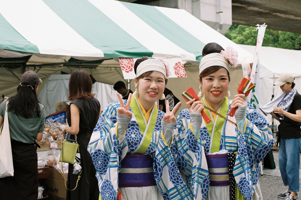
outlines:
[[[55,103],[66,101],[70,74],[54,74],[48,79],[39,94],[40,103],[45,106],[46,115],[55,112]],[[109,103],[118,100],[113,85],[96,82],[92,86],[92,93],[99,100],[103,110]]]

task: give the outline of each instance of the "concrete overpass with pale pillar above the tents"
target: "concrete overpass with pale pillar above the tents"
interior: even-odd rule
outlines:
[[[301,0],[121,0],[184,9],[225,34],[232,23],[301,34]]]

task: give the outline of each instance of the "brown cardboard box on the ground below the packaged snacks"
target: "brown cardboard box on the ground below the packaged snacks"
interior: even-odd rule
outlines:
[[[49,166],[49,178],[45,179],[45,193],[49,200],[57,200],[57,197],[66,199],[67,189],[64,176],[52,166]]]

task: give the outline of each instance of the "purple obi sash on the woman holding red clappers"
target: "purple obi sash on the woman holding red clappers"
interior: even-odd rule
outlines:
[[[229,185],[228,154],[206,155],[210,186]]]

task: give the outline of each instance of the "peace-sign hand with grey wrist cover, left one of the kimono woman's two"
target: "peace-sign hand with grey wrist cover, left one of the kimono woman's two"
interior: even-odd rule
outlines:
[[[117,97],[120,103],[120,107],[117,108],[117,115],[116,115],[117,123],[118,123],[117,138],[119,138],[126,131],[126,128],[132,119],[132,112],[129,111],[132,94],[129,94],[129,98],[126,105],[124,105],[123,99],[119,93],[117,93]]]

